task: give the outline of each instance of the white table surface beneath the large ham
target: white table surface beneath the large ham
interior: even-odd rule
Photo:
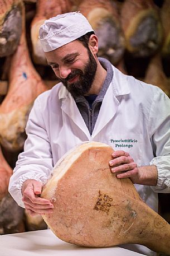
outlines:
[[[0,236],[1,256],[139,256],[117,246],[86,248],[66,243],[50,229]]]

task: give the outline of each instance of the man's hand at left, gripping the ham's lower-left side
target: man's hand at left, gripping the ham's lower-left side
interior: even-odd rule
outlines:
[[[41,198],[42,183],[37,180],[28,179],[22,185],[22,201],[27,212],[31,216],[44,213],[52,213],[53,204],[49,200]]]

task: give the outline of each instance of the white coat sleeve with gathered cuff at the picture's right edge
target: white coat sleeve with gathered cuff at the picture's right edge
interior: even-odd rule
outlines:
[[[154,95],[149,115],[149,131],[155,157],[150,165],[157,166],[157,193],[170,193],[170,99],[161,89]]]

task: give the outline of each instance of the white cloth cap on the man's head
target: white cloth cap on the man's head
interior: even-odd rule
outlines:
[[[43,51],[51,52],[90,31],[94,30],[80,12],[68,12],[45,20],[39,38]]]

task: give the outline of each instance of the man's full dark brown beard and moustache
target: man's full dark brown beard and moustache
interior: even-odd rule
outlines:
[[[72,71],[65,79],[60,78],[59,80],[64,84],[67,90],[71,93],[73,97],[83,96],[88,94],[91,85],[94,81],[97,63],[93,54],[88,49],[89,60],[86,64],[84,71],[81,69],[76,69]],[[79,80],[77,82],[69,83],[68,81],[74,78],[75,76],[79,76]]]

